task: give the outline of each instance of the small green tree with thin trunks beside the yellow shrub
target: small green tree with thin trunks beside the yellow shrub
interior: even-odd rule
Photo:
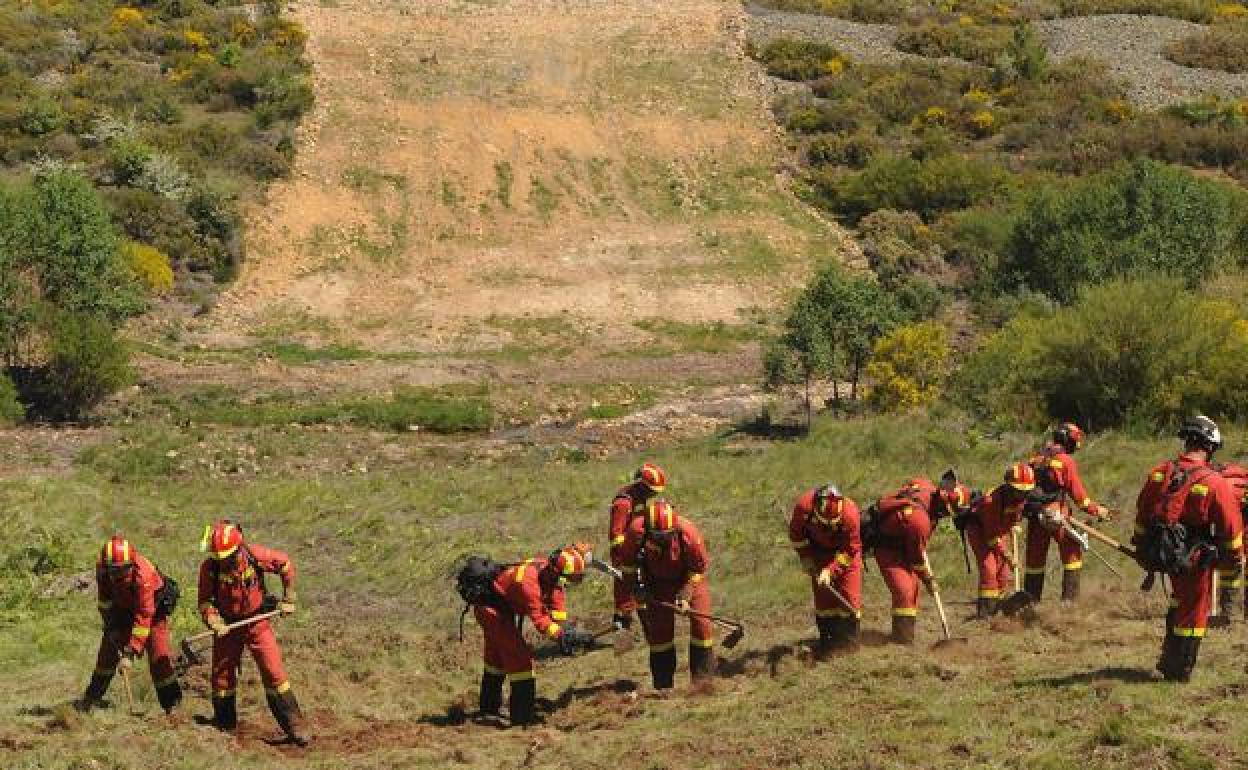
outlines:
[[[856,399],[875,341],[901,319],[897,303],[875,280],[830,265],[815,275],[790,307],[784,332],[764,361],[768,382],[805,386],[809,427],[812,381],[847,379],[850,398]],[[840,402],[839,388],[834,388],[832,399]]]

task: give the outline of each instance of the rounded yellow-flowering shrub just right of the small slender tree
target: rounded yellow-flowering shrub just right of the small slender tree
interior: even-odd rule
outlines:
[[[867,401],[882,412],[909,412],[935,402],[950,373],[948,333],[934,321],[901,326],[875,343]]]

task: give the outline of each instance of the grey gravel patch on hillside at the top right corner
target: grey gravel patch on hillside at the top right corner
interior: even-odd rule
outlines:
[[[1211,95],[1248,95],[1248,74],[1196,70],[1166,59],[1166,46],[1203,29],[1178,19],[1129,15],[1036,22],[1036,31],[1056,60],[1103,61],[1112,75],[1127,82],[1131,100],[1147,109]]]

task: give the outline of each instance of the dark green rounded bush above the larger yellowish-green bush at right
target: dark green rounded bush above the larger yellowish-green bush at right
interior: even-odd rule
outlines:
[[[1244,201],[1238,188],[1153,161],[1043,186],[1015,222],[1000,282],[1058,302],[1132,273],[1196,286],[1243,252]]]

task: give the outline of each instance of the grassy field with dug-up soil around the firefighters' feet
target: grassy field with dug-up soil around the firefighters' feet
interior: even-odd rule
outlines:
[[[152,432],[155,433],[155,432]],[[1234,442],[1237,432],[1231,433]],[[136,436],[141,437],[144,431]],[[167,433],[151,436],[160,442]],[[973,583],[945,529],[932,559],[965,650],[930,650],[936,614],[925,607],[921,644],[882,644],[887,599],[866,578],[865,648],[812,666],[809,597],[789,553],[784,517],[806,485],[837,480],[861,502],[915,473],[956,465],[990,485],[1035,437],[977,434],[961,418],[820,422],[794,442],[711,437],[659,453],[671,497],[706,532],[716,609],[749,631],[720,650],[713,691],[645,694],[639,646],[543,661],[539,695],[554,701],[545,728],[500,733],[463,723],[474,708],[479,633],[457,639],[449,574],[469,552],[513,558],[557,543],[600,538],[603,508],[635,458],[557,463],[540,451],[502,461],[418,452],[382,472],[287,474],[222,480],[206,470],[107,478],[92,452],[67,477],[0,484],[9,535],[0,549],[0,764],[6,768],[1233,768],[1248,738],[1234,708],[1248,686],[1243,626],[1211,635],[1186,688],[1154,681],[1164,600],[1136,590],[1088,559],[1086,597],[1068,613],[1052,597],[1030,628],[970,624]],[[142,438],[135,438],[142,442]],[[316,448],[285,437],[275,453]],[[1233,443],[1234,446],[1234,443]],[[1168,439],[1103,436],[1081,456],[1101,499],[1126,508]],[[79,695],[97,641],[94,597],[75,588],[114,529],[163,569],[191,582],[202,523],[241,517],[260,543],[286,548],[300,568],[302,609],[278,630],[295,686],[311,713],[306,750],[260,740],[271,723],[251,664],[243,668],[243,730],[228,739],[187,715],[208,713],[202,670],[183,716],[114,708],[80,719]],[[947,525],[946,525],[947,527]],[[1126,532],[1118,520],[1112,529]],[[1056,555],[1052,557],[1056,564]],[[1055,575],[1056,577],[1056,575]],[[1052,580],[1051,580],[1052,584]],[[177,635],[197,630],[193,598]],[[603,623],[609,587],[592,579],[572,595],[574,614]],[[681,649],[681,658],[684,650]],[[119,683],[120,684],[120,683]],[[640,689],[640,696],[634,691]],[[228,749],[228,755],[222,750]]]

